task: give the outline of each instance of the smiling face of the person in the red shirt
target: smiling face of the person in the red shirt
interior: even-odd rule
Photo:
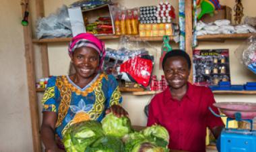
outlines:
[[[171,88],[179,89],[189,80],[189,64],[182,56],[167,58],[164,63],[164,76]]]

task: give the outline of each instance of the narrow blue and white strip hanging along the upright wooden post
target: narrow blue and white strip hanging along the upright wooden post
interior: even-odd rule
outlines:
[[[185,0],[179,0],[179,27],[181,50],[185,50]]]

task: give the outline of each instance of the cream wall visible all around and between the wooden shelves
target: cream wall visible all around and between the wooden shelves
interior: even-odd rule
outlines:
[[[63,3],[70,4],[74,0],[44,0],[45,14],[55,12],[57,7]],[[156,0],[119,0],[120,3],[128,8],[139,7],[143,5],[156,5]],[[221,1],[231,8],[234,1]],[[255,15],[255,1],[242,1],[245,7],[245,15]],[[30,3],[34,6],[34,1]],[[177,1],[172,1],[177,8]],[[35,16],[35,7],[32,7],[30,15]],[[177,9],[176,9],[177,11]],[[0,75],[2,86],[0,92],[0,152],[9,151],[33,151],[32,149],[32,129],[30,123],[30,110],[28,104],[28,86],[26,80],[26,61],[24,57],[24,39],[22,25],[22,11],[20,0],[1,0],[0,5]],[[106,47],[118,47],[118,40],[106,40]],[[233,52],[242,44],[242,40],[228,40],[225,43],[205,43],[199,42],[199,48],[228,48],[230,50],[230,70],[232,84],[241,84],[247,81],[256,81],[255,74],[246,70],[243,65],[239,64]],[[150,43],[158,50],[160,56],[160,42]],[[173,48],[177,44],[172,43]],[[38,48],[35,46],[35,48]],[[40,78],[40,54],[36,49],[36,69],[37,78]],[[67,74],[69,57],[67,56],[67,43],[49,44],[50,71],[53,75]],[[161,75],[161,71],[155,74]],[[42,93],[38,98],[41,98]],[[132,96],[130,93],[123,93],[123,106],[128,110],[133,125],[146,125],[146,117],[143,114],[143,107],[149,102],[152,96]],[[255,95],[218,95],[216,100],[222,101],[248,101],[255,102]]]

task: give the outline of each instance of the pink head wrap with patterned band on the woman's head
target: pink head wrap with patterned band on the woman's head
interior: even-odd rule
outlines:
[[[76,48],[86,46],[89,48],[94,48],[100,55],[100,69],[102,69],[104,57],[106,54],[105,44],[98,37],[94,36],[92,33],[79,33],[72,38],[69,43],[69,54],[72,54]]]

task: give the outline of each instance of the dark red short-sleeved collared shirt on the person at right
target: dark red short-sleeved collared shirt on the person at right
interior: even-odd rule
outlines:
[[[149,106],[148,126],[159,124],[168,130],[170,149],[184,151],[205,151],[206,127],[224,126],[220,117],[215,117],[208,107],[216,113],[212,104],[214,94],[210,88],[195,86],[188,82],[188,90],[181,100],[172,98],[170,89],[156,94]]]

